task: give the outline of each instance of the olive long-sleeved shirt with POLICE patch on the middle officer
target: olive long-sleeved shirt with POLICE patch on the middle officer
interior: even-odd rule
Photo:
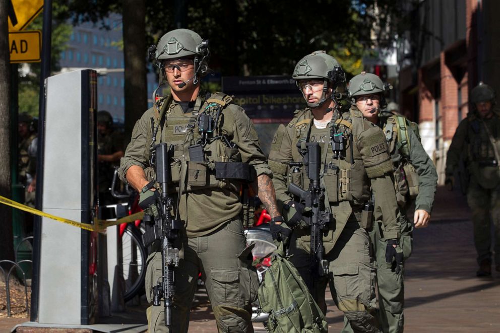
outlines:
[[[338,111],[334,111],[338,112]],[[390,156],[387,152],[387,144],[384,140],[382,131],[374,126],[372,123],[362,118],[359,111],[353,113],[344,112],[339,119],[343,117],[350,117],[353,123],[352,135],[353,143],[356,145],[354,149],[355,155],[355,167],[356,170],[361,168],[362,171],[360,175],[354,175],[353,170],[351,170],[351,188],[356,186],[357,188],[364,188],[366,198],[363,201],[358,201],[353,199],[352,201],[343,201],[339,204],[334,204],[332,207],[332,212],[337,220],[337,227],[335,230],[336,236],[334,236],[334,241],[340,235],[347,219],[349,218],[351,212],[360,212],[364,202],[369,200],[369,186],[374,190],[374,195],[376,197],[376,207],[374,214],[376,218],[383,221],[385,228],[385,238],[399,238],[399,209],[395,200],[395,190],[394,183],[392,180],[392,163],[390,162]],[[276,198],[278,205],[283,205],[288,203],[292,198],[288,192],[288,184],[293,177],[290,174],[289,162],[301,162],[301,158],[298,156],[296,143],[302,134],[303,127],[310,124],[311,134],[320,135],[320,138],[314,138],[314,140],[309,141],[320,141],[324,142],[327,140],[327,145],[321,145],[322,147],[322,162],[325,161],[324,147],[331,150],[330,135],[328,132],[323,132],[323,130],[318,130],[311,123],[313,120],[313,114],[310,109],[306,108],[304,110],[296,111],[296,116],[290,123],[286,126],[281,125],[273,139],[271,146],[271,153],[269,155],[269,163],[271,169],[273,170],[273,183],[276,190]],[[328,126],[330,128],[330,126]],[[323,138],[324,137],[324,138]],[[311,139],[311,138],[310,138]],[[368,146],[369,145],[369,146]],[[349,148],[347,148],[349,150]],[[362,167],[359,166],[362,163]],[[387,170],[386,170],[387,169]],[[328,186],[328,184],[327,184]],[[332,199],[329,199],[332,203]],[[348,207],[344,205],[347,204]],[[349,207],[349,205],[351,207]],[[342,208],[344,207],[344,208]],[[347,216],[341,217],[342,210],[347,213]],[[286,217],[287,212],[283,210],[283,215]],[[340,221],[343,222],[340,222]],[[343,224],[342,224],[343,223]],[[340,225],[339,225],[340,224]],[[324,239],[325,242],[325,239]]]

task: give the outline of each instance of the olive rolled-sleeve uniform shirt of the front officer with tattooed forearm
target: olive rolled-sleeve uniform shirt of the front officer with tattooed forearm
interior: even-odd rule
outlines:
[[[202,98],[201,96],[202,94],[198,98]],[[208,103],[204,102],[200,110],[205,110],[207,105]],[[124,157],[121,159],[120,178],[124,181],[126,181],[127,170],[132,165],[143,168],[149,180],[153,177],[153,170],[149,166],[146,154],[146,149],[149,150],[150,146],[147,132],[152,131],[152,117],[159,117],[158,111],[155,108],[147,110],[134,127],[132,141],[127,147]],[[169,112],[166,115],[165,124],[159,130],[161,133],[157,135],[157,138],[159,138],[157,143],[167,142],[168,144],[172,140],[176,142],[183,141],[186,133],[182,131],[182,126],[184,126],[182,123],[188,124],[190,117],[191,112],[184,113],[179,104],[172,102]],[[175,124],[171,119],[175,119]],[[171,127],[167,135],[168,126]],[[174,127],[173,129],[172,126]],[[254,166],[257,176],[267,174],[272,177],[272,172],[267,165],[266,156],[259,146],[257,131],[241,107],[235,104],[226,105],[219,119],[219,126],[222,126],[222,133],[236,145],[237,151],[233,153],[236,159]],[[194,130],[198,131],[198,126],[195,126]],[[184,159],[182,150],[175,149],[175,155],[175,158]],[[176,191],[178,191],[178,188]],[[226,188],[193,190],[188,193],[183,192],[178,199],[179,206],[177,213],[179,218],[185,222],[188,237],[209,234],[226,222],[238,218],[242,209],[239,191],[239,187],[229,186]],[[175,199],[177,200],[177,197]]]

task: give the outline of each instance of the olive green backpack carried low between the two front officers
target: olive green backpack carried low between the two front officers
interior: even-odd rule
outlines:
[[[282,245],[272,254],[258,292],[260,309],[269,313],[265,323],[268,332],[328,332],[323,312],[297,269],[284,257]]]

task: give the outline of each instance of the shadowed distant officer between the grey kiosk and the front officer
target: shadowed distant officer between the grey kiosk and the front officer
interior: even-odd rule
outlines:
[[[124,152],[123,134],[114,130],[113,117],[108,111],[97,112],[97,162],[99,163],[99,204],[110,205],[114,167],[120,165]]]

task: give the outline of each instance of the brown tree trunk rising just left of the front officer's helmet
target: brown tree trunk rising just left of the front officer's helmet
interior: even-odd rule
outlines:
[[[148,107],[146,81],[146,5],[123,1],[123,53],[125,62],[125,136]]]

